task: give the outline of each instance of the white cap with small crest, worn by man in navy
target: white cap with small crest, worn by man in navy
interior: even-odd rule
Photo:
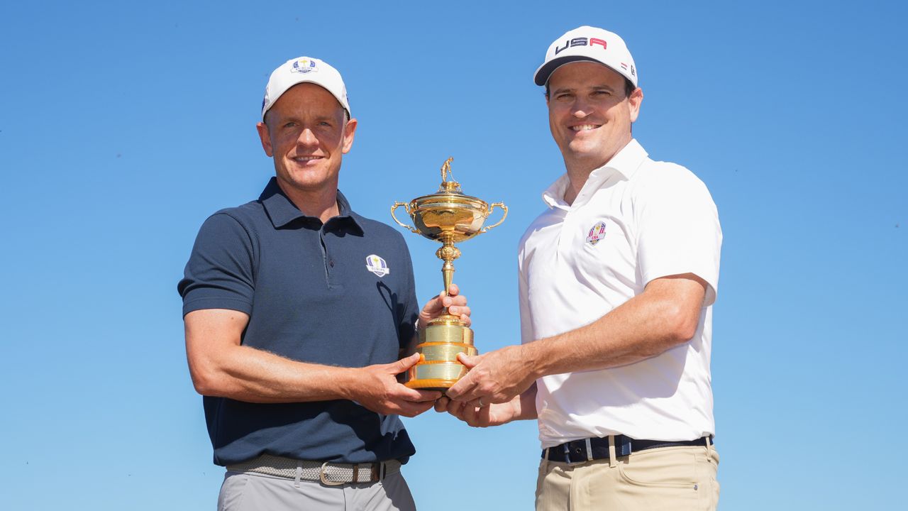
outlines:
[[[341,73],[323,60],[301,56],[291,58],[271,73],[268,85],[265,86],[265,98],[262,99],[262,121],[265,120],[265,112],[274,106],[283,93],[293,85],[306,83],[321,85],[338,99],[338,102],[347,111],[347,115],[350,115],[347,87],[343,85]]]

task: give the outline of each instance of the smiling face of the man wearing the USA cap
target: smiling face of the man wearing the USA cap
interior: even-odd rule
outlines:
[[[631,140],[643,91],[625,94],[625,78],[593,62],[562,65],[548,79],[548,127],[568,172],[589,174]]]

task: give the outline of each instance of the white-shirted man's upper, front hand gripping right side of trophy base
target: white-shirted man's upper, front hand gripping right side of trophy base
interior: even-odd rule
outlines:
[[[459,362],[469,368],[469,373],[448,389],[448,397],[475,407],[508,403],[536,381],[523,349],[506,346],[479,356],[459,354]]]

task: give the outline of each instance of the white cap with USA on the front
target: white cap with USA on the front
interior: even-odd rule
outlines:
[[[536,70],[533,81],[536,85],[546,85],[548,77],[558,67],[578,61],[607,65],[637,86],[637,67],[624,39],[613,32],[587,25],[569,30],[548,46],[546,62]]]

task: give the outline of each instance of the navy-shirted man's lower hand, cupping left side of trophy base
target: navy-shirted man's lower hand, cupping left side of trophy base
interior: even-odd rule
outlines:
[[[397,362],[377,364],[356,369],[360,372],[354,395],[350,398],[373,412],[414,417],[432,407],[441,393],[416,390],[398,383],[397,376],[419,362],[415,353]]]

